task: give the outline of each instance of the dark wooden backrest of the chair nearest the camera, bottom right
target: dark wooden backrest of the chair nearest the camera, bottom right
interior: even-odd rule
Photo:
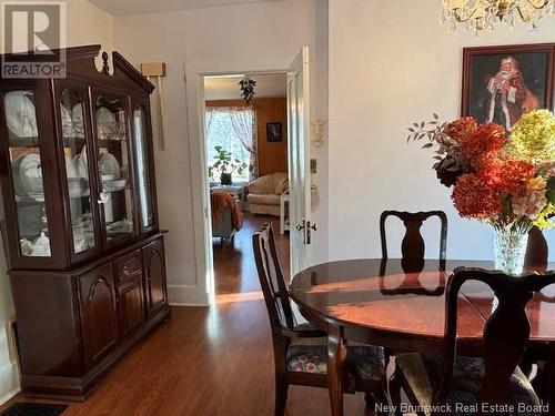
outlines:
[[[521,362],[529,338],[526,305],[535,293],[555,283],[555,273],[515,277],[498,271],[458,267],[450,277],[445,297],[445,344],[443,382],[436,402],[451,390],[456,357],[457,302],[461,286],[468,281],[488,285],[498,305],[484,326],[485,377],[478,399],[482,403],[511,404],[511,377]]]

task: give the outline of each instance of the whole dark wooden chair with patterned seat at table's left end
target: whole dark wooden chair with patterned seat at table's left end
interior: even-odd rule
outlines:
[[[270,316],[275,365],[275,415],[285,410],[290,385],[327,388],[326,333],[295,322],[271,224],[253,235],[254,257]],[[347,347],[346,392],[364,392],[369,406],[387,404],[385,356],[381,347]]]

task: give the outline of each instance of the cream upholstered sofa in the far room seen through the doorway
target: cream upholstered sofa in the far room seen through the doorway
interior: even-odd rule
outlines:
[[[249,183],[249,211],[251,214],[280,216],[280,196],[289,191],[286,172],[260,176]]]

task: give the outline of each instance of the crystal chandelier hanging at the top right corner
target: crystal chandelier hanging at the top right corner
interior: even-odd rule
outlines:
[[[462,23],[465,29],[492,31],[497,23],[511,28],[522,21],[529,30],[548,16],[555,16],[555,0],[442,0],[442,22],[450,30]]]

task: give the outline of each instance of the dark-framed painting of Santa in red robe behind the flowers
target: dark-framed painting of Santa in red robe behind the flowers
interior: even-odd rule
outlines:
[[[462,115],[508,131],[522,114],[553,110],[555,43],[465,48]]]

